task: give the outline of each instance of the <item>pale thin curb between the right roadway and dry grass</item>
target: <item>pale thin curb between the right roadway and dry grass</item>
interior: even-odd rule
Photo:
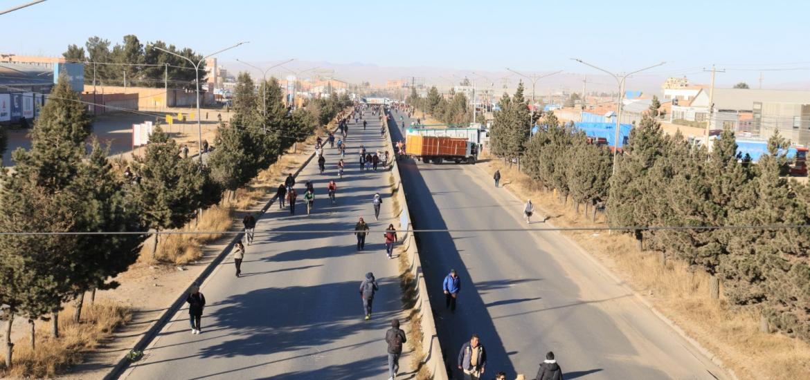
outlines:
[[[480,167],[480,170],[484,171],[484,168]],[[484,172],[486,172],[486,171],[484,171]],[[506,190],[516,200],[522,201],[522,199],[520,199],[518,197],[518,195],[515,194],[514,191],[511,190],[511,188],[507,188]],[[555,227],[555,225],[552,222],[547,221],[547,222],[544,222],[544,223],[548,224],[548,226]],[[642,304],[644,306],[646,306],[647,309],[650,309],[650,311],[652,311],[653,315],[658,317],[658,319],[660,319],[663,323],[667,324],[667,326],[669,326],[673,331],[675,331],[681,338],[683,338],[684,340],[689,342],[689,344],[692,344],[692,347],[695,348],[697,350],[697,352],[701,353],[703,356],[708,358],[714,364],[718,365],[720,368],[725,369],[727,371],[727,373],[731,376],[732,379],[739,380],[739,378],[737,378],[737,374],[735,374],[734,370],[731,369],[731,368],[728,368],[727,365],[723,364],[723,360],[721,360],[717,355],[712,353],[708,348],[703,347],[703,345],[700,344],[700,342],[698,342],[697,340],[694,340],[691,336],[689,336],[686,333],[686,331],[684,331],[682,328],[680,328],[680,326],[677,325],[677,323],[675,323],[675,321],[669,319],[669,317],[667,317],[666,315],[663,315],[663,313],[661,313],[658,310],[658,308],[656,308],[652,304],[652,302],[650,302],[649,300],[644,298],[644,296],[642,296],[641,293],[638,293],[635,289],[630,287],[627,284],[626,281],[624,281],[620,277],[616,276],[616,274],[614,274],[608,267],[605,267],[604,264],[602,264],[598,259],[596,259],[594,257],[594,255],[591,255],[590,252],[586,251],[585,248],[582,248],[582,246],[580,246],[579,243],[573,241],[573,239],[571,239],[570,236],[568,236],[566,234],[560,234],[560,235],[561,235],[561,237],[563,239],[565,239],[569,243],[571,243],[571,245],[573,245],[574,247],[577,247],[577,251],[580,252],[580,255],[585,256],[586,260],[589,260],[591,264],[594,264],[594,266],[599,269],[599,272],[602,272],[605,276],[609,277],[612,281],[616,281],[617,285],[619,285],[623,289],[627,290],[629,293],[632,293],[633,297],[636,298],[639,302],[642,302]]]

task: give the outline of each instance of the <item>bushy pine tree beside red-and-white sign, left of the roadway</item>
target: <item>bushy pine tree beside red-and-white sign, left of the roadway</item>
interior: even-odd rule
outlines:
[[[207,189],[207,171],[201,171],[191,158],[181,158],[177,151],[177,143],[156,125],[145,156],[135,158],[134,167],[141,179],[134,195],[143,224],[156,232],[153,258],[160,230],[185,226],[197,209],[207,205],[207,199],[218,199]]]

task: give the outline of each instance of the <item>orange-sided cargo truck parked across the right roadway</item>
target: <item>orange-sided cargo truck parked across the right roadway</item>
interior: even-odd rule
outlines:
[[[425,163],[475,163],[477,144],[458,137],[436,137],[408,134],[405,154]]]

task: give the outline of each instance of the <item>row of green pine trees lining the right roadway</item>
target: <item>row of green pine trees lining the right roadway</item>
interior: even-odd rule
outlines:
[[[769,154],[749,164],[738,160],[730,130],[709,152],[645,116],[614,174],[607,147],[587,143],[552,113],[532,115],[522,85],[500,105],[493,154],[519,158],[527,175],[562,202],[571,198],[578,212],[605,205],[609,226],[638,227],[625,232],[642,249],[709,273],[713,298],[722,288],[735,306],[757,308],[770,328],[810,340],[810,186],[786,177],[789,141],[775,134]],[[687,228],[661,228],[673,226]]]

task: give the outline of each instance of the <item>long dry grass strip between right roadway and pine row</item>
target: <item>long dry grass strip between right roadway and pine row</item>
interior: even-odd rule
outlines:
[[[501,184],[521,199],[531,198],[556,226],[604,226],[603,217],[590,222],[576,215],[573,205],[562,205],[558,198],[543,192],[527,175],[497,158],[487,171],[501,171]],[[582,209],[581,209],[582,211]],[[758,331],[759,316],[750,310],[729,305],[709,296],[709,277],[688,265],[668,260],[660,264],[657,252],[639,251],[627,234],[592,231],[565,231],[590,255],[596,257],[656,309],[675,322],[694,340],[717,355],[740,378],[808,378],[810,344],[782,334]]]

